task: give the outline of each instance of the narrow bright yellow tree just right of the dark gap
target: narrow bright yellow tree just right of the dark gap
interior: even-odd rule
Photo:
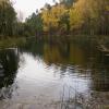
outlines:
[[[84,11],[85,0],[78,0],[72,8],[70,9],[70,25],[71,31],[80,29],[85,22]]]

